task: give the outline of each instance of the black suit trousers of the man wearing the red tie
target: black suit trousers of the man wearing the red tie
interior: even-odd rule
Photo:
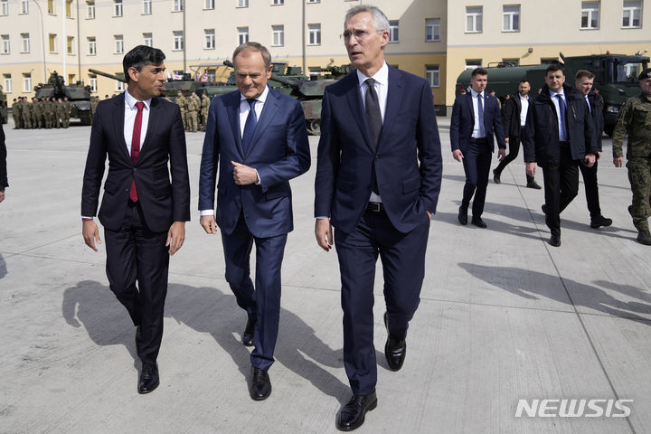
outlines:
[[[109,288],[140,325],[137,353],[143,363],[156,363],[163,339],[169,253],[167,231],[150,231],[140,203],[129,201],[118,231],[104,229]],[[137,281],[137,286],[136,286]]]

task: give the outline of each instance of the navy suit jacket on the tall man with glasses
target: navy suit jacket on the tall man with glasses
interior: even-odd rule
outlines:
[[[436,212],[442,160],[429,83],[389,67],[386,112],[371,142],[356,71],[325,88],[316,168],[315,216],[351,233],[371,195],[373,167],[393,226],[414,229]],[[418,156],[418,158],[417,158]],[[419,163],[420,162],[420,163]]]

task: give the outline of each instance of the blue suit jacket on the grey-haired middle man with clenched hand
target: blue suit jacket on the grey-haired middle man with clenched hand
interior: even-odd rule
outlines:
[[[230,234],[244,212],[249,231],[256,237],[288,233],[294,229],[289,180],[307,172],[310,166],[303,109],[296,99],[269,89],[245,155],[240,134],[240,99],[238,90],[212,99],[203,140],[199,210],[211,210],[214,206],[216,183],[215,222],[222,231]],[[235,184],[231,161],[258,170],[260,184]]]

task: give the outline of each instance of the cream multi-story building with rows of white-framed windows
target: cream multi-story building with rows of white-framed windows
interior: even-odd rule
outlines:
[[[241,42],[269,47],[274,60],[318,73],[348,62],[345,11],[363,0],[0,0],[0,84],[11,101],[57,71],[99,96],[123,84],[137,44],[165,52],[171,74],[221,80],[222,61]],[[458,74],[496,61],[536,64],[566,55],[645,52],[651,12],[644,0],[376,0],[391,24],[386,59],[425,77],[435,104],[451,106]],[[489,77],[490,80],[490,77]]]

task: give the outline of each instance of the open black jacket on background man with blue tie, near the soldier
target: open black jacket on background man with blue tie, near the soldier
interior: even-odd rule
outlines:
[[[594,125],[583,94],[566,84],[563,93],[567,102],[565,115],[572,159],[580,160],[586,154],[596,154]],[[536,162],[540,166],[558,164],[561,161],[558,116],[547,85],[530,103],[525,128],[524,161]]]

